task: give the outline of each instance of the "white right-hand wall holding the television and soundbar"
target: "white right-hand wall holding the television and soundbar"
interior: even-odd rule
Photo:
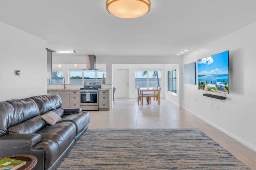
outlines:
[[[183,107],[256,151],[256,23],[192,51],[183,64],[229,50],[229,94],[224,102],[203,96],[197,85],[183,84]],[[211,93],[215,94],[216,93]],[[223,96],[223,95],[219,95]],[[212,107],[213,106],[213,107]]]

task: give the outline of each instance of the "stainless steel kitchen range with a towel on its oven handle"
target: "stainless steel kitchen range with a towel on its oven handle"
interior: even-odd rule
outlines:
[[[80,88],[80,107],[82,110],[99,110],[98,89],[100,82],[84,82],[84,88]]]

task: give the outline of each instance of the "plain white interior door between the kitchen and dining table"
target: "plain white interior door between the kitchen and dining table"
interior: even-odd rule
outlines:
[[[116,98],[129,98],[129,70],[116,69]]]

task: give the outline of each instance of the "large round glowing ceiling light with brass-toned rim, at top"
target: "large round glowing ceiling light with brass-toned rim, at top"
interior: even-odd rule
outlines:
[[[149,0],[107,0],[107,11],[120,18],[138,18],[150,10]]]

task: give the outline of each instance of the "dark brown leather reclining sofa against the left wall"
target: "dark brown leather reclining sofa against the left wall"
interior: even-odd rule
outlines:
[[[61,117],[54,125],[42,119],[52,111]],[[58,94],[0,102],[0,158],[31,154],[38,160],[35,170],[54,170],[86,131],[89,121],[88,111],[63,109]]]

